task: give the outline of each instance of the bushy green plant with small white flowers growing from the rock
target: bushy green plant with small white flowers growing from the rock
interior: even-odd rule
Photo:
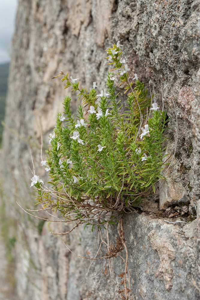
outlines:
[[[108,230],[118,224],[115,245],[107,242],[103,258],[111,259],[125,246],[121,216],[150,192],[163,179],[163,131],[166,113],[152,104],[137,74],[129,79],[130,70],[122,57],[119,41],[108,48],[109,71],[106,87],[97,95],[96,82],[88,92],[79,89],[78,78],[61,72],[65,88],[71,88],[82,100],[76,116],[70,109],[71,98],[63,102],[64,115],[58,113],[55,130],[50,135],[47,158],[41,163],[49,171],[50,187],[34,175],[31,186],[37,188],[38,202],[43,208],[59,211],[66,222],[84,223],[91,229]],[[115,81],[124,87],[126,104],[121,104]],[[120,221],[118,221],[120,220]],[[70,230],[71,231],[71,230]],[[101,257],[102,258],[102,257]],[[123,299],[128,298],[126,268],[121,274]]]

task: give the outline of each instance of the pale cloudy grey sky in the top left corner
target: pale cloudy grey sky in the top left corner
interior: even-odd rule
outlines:
[[[17,0],[0,0],[0,64],[10,61]]]

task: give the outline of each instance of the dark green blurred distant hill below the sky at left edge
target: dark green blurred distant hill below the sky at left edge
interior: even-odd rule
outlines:
[[[0,147],[3,132],[3,126],[1,125],[1,121],[3,121],[5,113],[8,72],[9,62],[5,64],[0,64]]]

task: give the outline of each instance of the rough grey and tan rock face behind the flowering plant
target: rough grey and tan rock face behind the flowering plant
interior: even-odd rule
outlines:
[[[66,95],[59,77],[51,78],[63,70],[79,78],[82,87],[91,88],[96,81],[100,91],[108,70],[104,49],[118,40],[124,45],[130,76],[137,73],[147,87],[149,83],[160,105],[163,94],[171,118],[166,145],[169,162],[175,151],[172,164],[163,170],[166,181],[160,182],[161,211],[155,212],[158,186],[157,198],[149,200],[152,212],[146,204],[148,209],[140,205],[142,214],[124,216],[130,299],[199,299],[199,32],[198,0],[19,0],[1,163],[7,214],[16,220],[17,228],[17,299],[118,299],[120,258],[113,260],[112,276],[106,266],[98,284],[101,275],[94,276],[100,272],[99,261],[80,284],[90,262],[74,256],[62,242],[77,255],[94,256],[96,233],[80,228],[72,235],[52,235],[49,232],[65,232],[65,223],[43,224],[16,204],[17,200],[24,209],[34,207],[30,149],[36,173],[46,176],[39,167],[40,133],[45,148]],[[73,111],[78,104],[74,98]],[[173,214],[174,219],[167,220],[184,220],[182,203],[187,222],[198,206],[197,220],[185,226],[164,222],[163,216]],[[168,214],[170,209],[174,211]],[[37,216],[55,220],[47,213]],[[115,241],[116,228],[112,230]]]

